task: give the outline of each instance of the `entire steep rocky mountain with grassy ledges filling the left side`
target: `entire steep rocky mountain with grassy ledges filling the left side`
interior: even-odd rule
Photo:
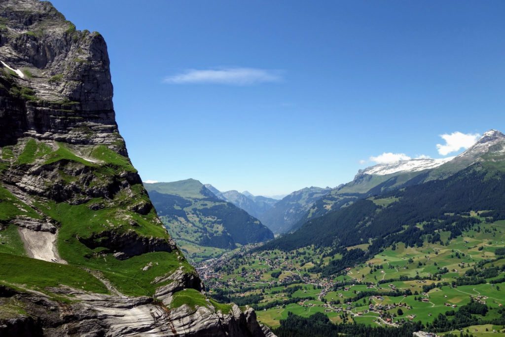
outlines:
[[[0,335],[270,334],[208,299],[162,226],[118,132],[102,35],[3,0],[0,61]]]

